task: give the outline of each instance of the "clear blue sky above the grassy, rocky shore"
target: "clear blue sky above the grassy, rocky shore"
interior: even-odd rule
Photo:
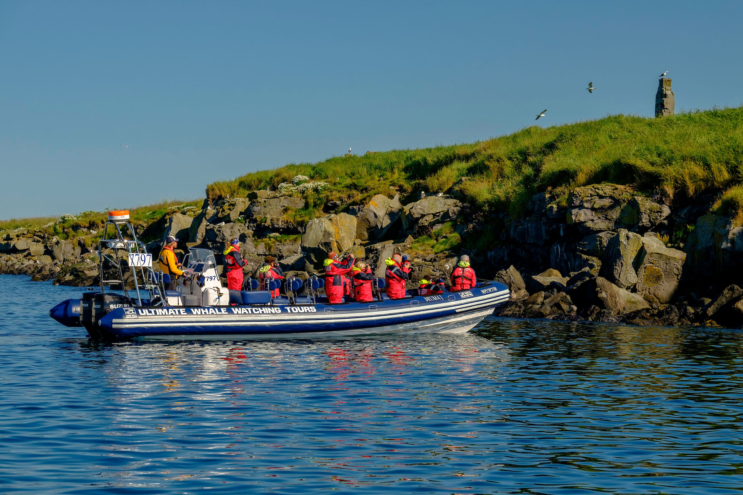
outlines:
[[[203,197],[544,108],[650,115],[666,70],[677,111],[741,105],[741,19],[739,1],[0,0],[0,218]]]

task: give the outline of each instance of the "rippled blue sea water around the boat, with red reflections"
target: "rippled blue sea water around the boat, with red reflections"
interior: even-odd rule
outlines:
[[[743,334],[91,344],[0,275],[3,494],[740,494]]]

